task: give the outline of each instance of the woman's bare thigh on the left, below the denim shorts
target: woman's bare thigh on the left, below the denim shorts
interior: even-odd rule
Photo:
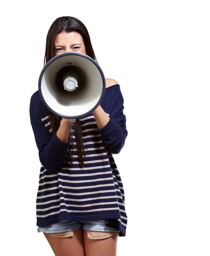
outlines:
[[[86,256],[83,242],[83,229],[73,230],[74,235],[66,238],[56,238],[44,233],[55,256]]]

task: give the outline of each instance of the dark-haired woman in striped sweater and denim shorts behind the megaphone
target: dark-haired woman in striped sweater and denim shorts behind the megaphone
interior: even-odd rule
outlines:
[[[45,63],[63,52],[97,61],[86,27],[74,17],[52,23]],[[30,119],[42,164],[37,231],[56,256],[115,256],[118,236],[126,235],[124,189],[112,157],[127,137],[123,103],[119,84],[106,79],[101,105],[71,124],[48,111],[38,91],[32,95]]]

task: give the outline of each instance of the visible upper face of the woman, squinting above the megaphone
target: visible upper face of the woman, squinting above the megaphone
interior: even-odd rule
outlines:
[[[86,54],[82,36],[78,32],[60,32],[55,37],[55,56],[64,52]]]

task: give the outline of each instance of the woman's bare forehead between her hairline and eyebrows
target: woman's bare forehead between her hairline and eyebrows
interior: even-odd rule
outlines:
[[[83,44],[82,36],[78,32],[60,32],[55,37],[55,45]]]

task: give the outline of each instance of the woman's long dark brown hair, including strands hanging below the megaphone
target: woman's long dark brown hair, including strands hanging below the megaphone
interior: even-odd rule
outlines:
[[[86,55],[89,57],[93,58],[96,62],[97,59],[95,57],[95,53],[92,48],[92,44],[90,41],[89,33],[88,30],[86,29],[86,26],[77,18],[75,17],[69,17],[69,16],[63,16],[57,18],[49,28],[49,31],[47,33],[46,37],[46,50],[45,50],[45,56],[44,56],[44,65],[55,56],[55,37],[58,35],[60,32],[78,32],[83,38],[83,42],[85,45],[85,50],[86,50]],[[52,133],[55,134],[55,132],[58,130],[60,127],[60,120],[53,114],[52,112],[48,111],[49,115],[49,121],[51,123],[51,128],[52,128]],[[74,123],[74,131],[75,131],[75,141],[76,141],[76,146],[78,150],[78,157],[81,162],[81,165],[83,165],[84,161],[84,155],[85,155],[85,150],[84,150],[84,145],[83,145],[83,137],[82,137],[82,131],[81,131],[81,126],[79,123],[79,120],[76,119]],[[74,145],[71,142],[69,143],[69,148],[67,152],[67,158],[69,161],[72,163],[72,150],[74,150]]]

